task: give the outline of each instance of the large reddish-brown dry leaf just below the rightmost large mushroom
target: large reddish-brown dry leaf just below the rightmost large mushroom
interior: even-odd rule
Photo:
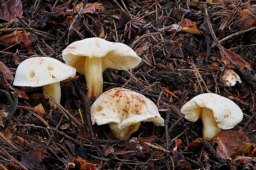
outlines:
[[[243,150],[243,146],[251,142],[252,134],[226,130],[216,135],[212,145],[217,145],[217,153],[223,158],[235,157]]]

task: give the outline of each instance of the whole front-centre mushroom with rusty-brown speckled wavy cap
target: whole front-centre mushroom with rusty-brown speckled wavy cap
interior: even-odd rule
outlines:
[[[114,137],[128,140],[138,130],[141,121],[152,121],[164,126],[156,105],[144,95],[126,88],[106,91],[92,104],[92,124],[109,124]]]

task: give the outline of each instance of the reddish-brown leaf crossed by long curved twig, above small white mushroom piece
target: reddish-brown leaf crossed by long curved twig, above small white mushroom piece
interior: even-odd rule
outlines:
[[[248,65],[248,63],[244,61],[244,59],[241,58],[238,54],[235,54],[234,52],[225,48],[224,51],[228,54],[231,60],[239,64],[241,68],[244,68]],[[223,56],[223,54],[221,54],[221,61],[225,64],[225,68],[235,68],[232,64],[228,62],[228,60]]]

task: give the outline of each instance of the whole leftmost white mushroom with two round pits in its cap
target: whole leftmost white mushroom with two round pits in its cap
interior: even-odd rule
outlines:
[[[47,94],[60,102],[60,81],[74,77],[76,69],[55,58],[33,57],[21,62],[14,78],[14,86],[43,86],[43,94]],[[57,106],[50,100],[50,106]]]

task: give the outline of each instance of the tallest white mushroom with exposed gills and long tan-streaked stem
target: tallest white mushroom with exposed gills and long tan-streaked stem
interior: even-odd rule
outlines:
[[[127,45],[97,37],[69,44],[62,51],[62,57],[66,64],[85,75],[89,101],[102,94],[102,72],[106,68],[129,70],[141,61],[141,58]]]

